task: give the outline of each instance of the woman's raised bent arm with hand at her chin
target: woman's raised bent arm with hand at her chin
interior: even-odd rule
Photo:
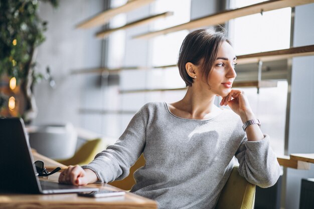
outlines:
[[[242,123],[256,119],[244,92],[240,90],[231,90],[221,105],[229,105],[240,116]],[[245,132],[244,140],[235,154],[239,161],[239,173],[260,187],[272,186],[279,178],[280,166],[269,145],[269,136],[262,133],[258,124],[249,125]]]

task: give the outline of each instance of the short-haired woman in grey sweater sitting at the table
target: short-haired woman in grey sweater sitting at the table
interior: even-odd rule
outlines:
[[[86,166],[70,166],[59,181],[84,185],[119,180],[143,153],[146,163],[134,173],[131,191],[156,200],[159,208],[214,208],[234,156],[249,182],[273,185],[279,164],[244,92],[231,89],[235,65],[223,33],[190,33],[178,60],[188,86],[185,97],[172,104],[145,104],[114,145]],[[215,106],[216,95],[232,111]]]

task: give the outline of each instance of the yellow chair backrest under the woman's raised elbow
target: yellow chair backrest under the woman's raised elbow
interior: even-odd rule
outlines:
[[[254,201],[255,185],[240,176],[238,167],[234,167],[215,209],[253,209]]]

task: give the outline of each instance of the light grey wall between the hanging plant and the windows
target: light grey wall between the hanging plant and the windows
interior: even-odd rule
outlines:
[[[33,124],[72,122],[80,124],[78,109],[85,101],[82,90],[88,77],[70,75],[75,69],[99,67],[101,40],[94,38],[99,29],[75,29],[75,25],[103,10],[103,1],[59,1],[57,9],[41,3],[39,16],[48,21],[46,41],[38,48],[38,70],[45,73],[50,66],[56,88],[43,80],[35,86],[38,116]],[[87,78],[87,79],[86,79]],[[99,89],[99,88],[98,88]]]

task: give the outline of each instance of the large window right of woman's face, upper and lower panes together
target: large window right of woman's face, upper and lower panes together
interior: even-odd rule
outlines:
[[[233,0],[230,2],[230,7],[240,8],[260,2],[263,1]],[[233,43],[236,55],[286,49],[290,47],[290,25],[291,8],[263,12],[262,15],[255,14],[231,20],[229,38]],[[263,65],[268,64],[271,65],[271,63]],[[263,133],[270,135],[271,147],[277,154],[284,154],[288,93],[288,83],[285,80],[287,66],[285,61],[277,61],[273,66],[277,73],[262,72],[262,76],[277,81],[276,87],[260,88],[259,94],[257,94],[256,88],[241,89],[245,91],[253,112],[260,119]],[[257,80],[256,67],[255,73],[253,73],[254,69],[248,73],[241,68],[243,66],[236,68],[236,71],[239,72],[236,80],[244,78],[245,80]],[[263,75],[263,73],[267,75]]]

